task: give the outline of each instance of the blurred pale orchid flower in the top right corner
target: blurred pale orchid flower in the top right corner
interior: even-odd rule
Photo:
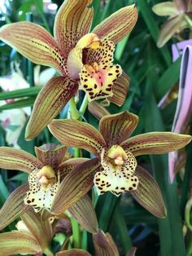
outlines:
[[[191,0],[173,0],[172,2],[159,2],[152,8],[156,15],[169,16],[168,20],[162,26],[157,46],[162,47],[172,36],[192,25]]]

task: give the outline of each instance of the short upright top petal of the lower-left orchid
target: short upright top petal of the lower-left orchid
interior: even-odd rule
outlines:
[[[37,158],[41,160],[43,165],[51,166],[54,170],[57,170],[67,151],[67,147],[54,143],[35,147]]]

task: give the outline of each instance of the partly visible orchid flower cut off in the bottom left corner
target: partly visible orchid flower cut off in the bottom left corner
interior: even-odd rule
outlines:
[[[34,211],[27,210],[20,216],[17,230],[0,234],[1,255],[46,254],[53,256],[49,249],[53,230],[50,219],[41,220]]]

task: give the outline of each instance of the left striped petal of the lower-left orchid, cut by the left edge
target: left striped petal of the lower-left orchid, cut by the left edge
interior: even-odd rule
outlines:
[[[17,148],[0,148],[0,167],[7,170],[23,170],[30,174],[33,170],[41,169],[41,161],[36,157]]]

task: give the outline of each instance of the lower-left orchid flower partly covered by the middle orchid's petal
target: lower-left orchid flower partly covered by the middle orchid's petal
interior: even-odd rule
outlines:
[[[67,147],[57,144],[45,144],[36,147],[37,157],[28,152],[16,148],[0,148],[0,167],[8,170],[22,170],[28,173],[28,183],[21,185],[11,193],[5,204],[0,210],[0,229],[6,227],[15,218],[23,214],[28,208],[42,215],[42,218],[48,218],[53,214],[50,213],[51,206],[58,192],[60,184],[68,188],[67,183],[74,183],[74,178],[68,182],[68,174],[73,174],[79,179],[81,168],[76,170],[83,163],[89,167],[87,158],[68,159]],[[86,163],[88,162],[88,164]],[[83,175],[82,175],[83,176]],[[74,183],[76,185],[76,183]],[[70,185],[70,184],[69,184]],[[97,232],[97,219],[89,196],[86,192],[92,186],[92,182],[87,183],[87,188],[76,190],[72,200],[68,198],[66,209],[72,216],[81,223],[89,232]],[[62,201],[62,196],[57,196],[56,202]],[[70,209],[69,209],[70,208]],[[7,214],[9,212],[9,214]],[[55,214],[54,214],[55,215]]]

